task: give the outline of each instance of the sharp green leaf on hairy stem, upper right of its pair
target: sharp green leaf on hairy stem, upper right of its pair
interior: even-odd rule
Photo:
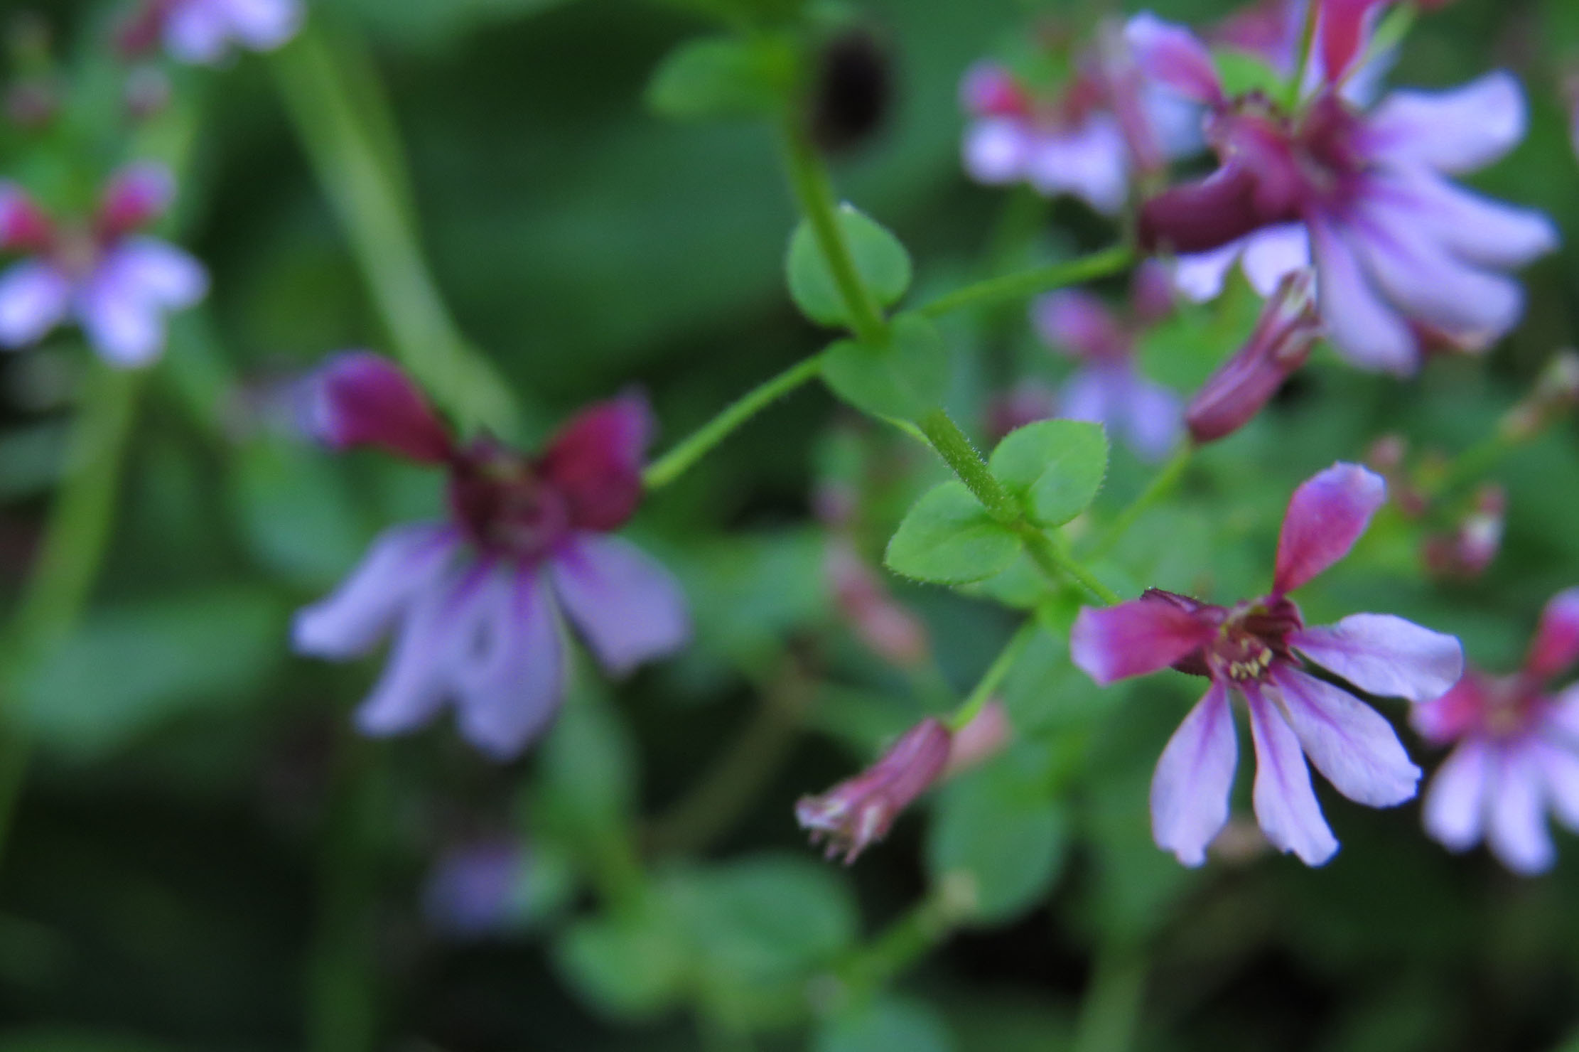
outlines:
[[[987,466],[1033,521],[1063,526],[1102,488],[1107,434],[1083,420],[1041,420],[998,442]]]

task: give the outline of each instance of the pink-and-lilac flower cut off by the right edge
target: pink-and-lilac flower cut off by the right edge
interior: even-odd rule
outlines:
[[[1579,831],[1579,689],[1549,692],[1579,659],[1579,588],[1546,603],[1524,668],[1472,668],[1445,697],[1415,709],[1427,741],[1457,742],[1426,791],[1426,832],[1464,851],[1484,837],[1519,874],[1551,869],[1547,807]]]

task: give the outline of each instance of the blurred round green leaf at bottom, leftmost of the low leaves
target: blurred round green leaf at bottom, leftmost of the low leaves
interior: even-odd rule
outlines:
[[[594,1008],[614,1019],[643,1020],[679,1000],[690,949],[684,929],[651,902],[572,924],[554,946],[554,960]]]

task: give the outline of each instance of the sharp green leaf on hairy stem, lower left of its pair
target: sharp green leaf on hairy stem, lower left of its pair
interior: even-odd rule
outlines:
[[[889,540],[884,562],[895,573],[936,584],[966,584],[1009,569],[1020,539],[987,513],[960,482],[927,491]]]

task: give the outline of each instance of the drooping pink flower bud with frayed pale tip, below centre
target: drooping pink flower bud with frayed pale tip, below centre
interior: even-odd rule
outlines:
[[[812,843],[827,840],[827,858],[843,853],[846,866],[854,862],[938,780],[949,761],[951,741],[952,735],[940,720],[922,720],[856,777],[821,796],[796,801],[796,821],[812,832]]]

